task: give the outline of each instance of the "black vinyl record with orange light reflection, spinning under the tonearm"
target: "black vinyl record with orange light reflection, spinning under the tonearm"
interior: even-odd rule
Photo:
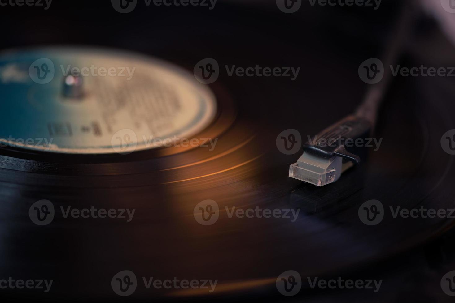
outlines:
[[[311,296],[306,277],[349,276],[453,226],[448,217],[395,215],[453,208],[453,157],[441,139],[455,125],[448,82],[394,79],[368,159],[317,187],[289,178],[289,165],[309,137],[359,104],[363,56],[344,54],[360,50],[337,54],[333,32],[302,47],[284,25],[253,36],[217,16],[204,37],[192,36],[207,53],[186,40],[189,31],[176,34],[186,14],[155,38],[117,25],[122,43],[105,41],[116,48],[62,42],[2,52],[1,277],[53,281],[49,293],[44,283],[42,292],[2,289],[5,298],[283,300],[277,281],[292,271],[303,283],[289,300],[302,300]],[[243,45],[222,43],[227,28]],[[162,44],[127,47],[128,33],[139,32]],[[248,68],[281,76],[248,77]]]

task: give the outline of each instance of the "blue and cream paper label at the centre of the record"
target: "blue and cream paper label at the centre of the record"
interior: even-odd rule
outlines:
[[[214,118],[212,92],[161,60],[86,49],[0,55],[0,144],[59,153],[152,149]]]

